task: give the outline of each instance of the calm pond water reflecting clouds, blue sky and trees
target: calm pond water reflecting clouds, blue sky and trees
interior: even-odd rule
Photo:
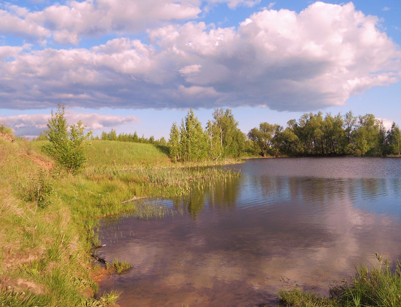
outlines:
[[[100,283],[123,291],[121,306],[275,305],[298,285],[329,284],[401,259],[401,159],[283,158],[229,166],[241,176],[162,203],[160,219],[108,219],[98,255],[133,268]]]

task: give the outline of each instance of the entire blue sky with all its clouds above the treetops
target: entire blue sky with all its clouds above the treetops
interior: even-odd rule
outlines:
[[[247,133],[303,113],[401,125],[401,1],[0,1],[0,124],[34,137],[51,109],[94,135],[168,139],[192,108]]]

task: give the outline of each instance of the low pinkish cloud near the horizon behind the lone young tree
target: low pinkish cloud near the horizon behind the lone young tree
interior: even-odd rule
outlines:
[[[86,125],[86,130],[104,129],[119,127],[121,125],[138,123],[133,115],[104,115],[97,113],[77,113],[74,111],[65,111],[65,117],[70,124],[82,121]],[[32,114],[32,115],[16,115],[8,117],[0,117],[0,122],[4,125],[12,127],[16,135],[24,135],[26,137],[36,137],[43,130],[47,129],[47,123],[50,118],[49,114]]]

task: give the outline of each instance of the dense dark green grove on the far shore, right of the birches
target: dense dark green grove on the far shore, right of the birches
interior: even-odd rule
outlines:
[[[262,156],[388,156],[399,155],[401,133],[393,123],[386,131],[373,114],[304,113],[291,119],[286,129],[261,123],[248,133]]]

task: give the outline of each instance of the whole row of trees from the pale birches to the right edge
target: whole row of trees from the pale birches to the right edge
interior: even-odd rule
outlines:
[[[322,111],[290,119],[287,127],[263,122],[247,135],[239,130],[230,109],[215,109],[205,128],[188,111],[170,129],[168,148],[174,162],[218,160],[241,155],[267,156],[390,156],[400,155],[401,132],[394,122],[386,130],[373,114],[332,116]]]

